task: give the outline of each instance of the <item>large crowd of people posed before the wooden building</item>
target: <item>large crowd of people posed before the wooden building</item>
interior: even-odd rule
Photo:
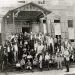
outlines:
[[[2,69],[6,64],[15,64],[16,69],[33,70],[37,66],[40,70],[44,65],[49,70],[50,63],[57,63],[57,69],[63,69],[65,61],[69,72],[69,60],[73,55],[73,48],[68,40],[62,42],[61,36],[52,37],[42,33],[11,34],[5,40],[0,50]],[[72,56],[72,58],[74,58]]]

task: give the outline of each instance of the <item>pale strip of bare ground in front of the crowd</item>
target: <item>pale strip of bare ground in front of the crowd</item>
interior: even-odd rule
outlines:
[[[70,72],[63,70],[49,70],[49,71],[38,71],[38,72],[4,72],[0,75],[75,75],[75,68],[70,68]]]

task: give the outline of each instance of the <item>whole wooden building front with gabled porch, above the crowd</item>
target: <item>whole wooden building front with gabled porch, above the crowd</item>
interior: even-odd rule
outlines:
[[[60,35],[61,39],[75,41],[75,11],[73,6],[50,6],[47,3],[28,3],[8,11],[1,20],[4,41],[11,33],[33,32]],[[63,3],[64,4],[64,3]]]

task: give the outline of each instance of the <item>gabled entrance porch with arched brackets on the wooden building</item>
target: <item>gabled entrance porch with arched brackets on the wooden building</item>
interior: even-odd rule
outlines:
[[[11,33],[47,33],[46,16],[50,13],[32,2],[8,11],[2,18],[2,40],[8,39]]]

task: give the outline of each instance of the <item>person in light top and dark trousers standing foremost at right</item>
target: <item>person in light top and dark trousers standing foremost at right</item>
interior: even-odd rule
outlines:
[[[64,61],[65,61],[65,66],[66,66],[66,72],[69,72],[69,60],[70,60],[70,52],[68,50],[68,48],[65,48],[64,51]]]

